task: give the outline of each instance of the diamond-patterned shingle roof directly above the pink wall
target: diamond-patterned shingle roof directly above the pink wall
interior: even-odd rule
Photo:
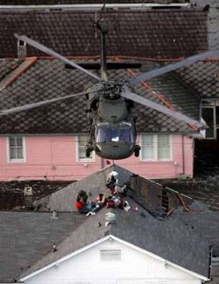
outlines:
[[[83,61],[85,60],[80,60],[80,62]],[[8,60],[0,60],[0,70],[6,75],[9,73],[9,67],[16,64],[21,65],[22,62],[22,60],[11,60],[9,66]],[[143,63],[141,70],[137,70],[138,72],[159,67],[159,64],[153,61]],[[113,80],[125,80],[130,76],[126,70],[109,71],[109,77]],[[90,77],[77,70],[65,70],[63,63],[58,60],[38,59],[28,70],[21,72],[9,87],[2,89],[1,109],[82,92],[87,82],[95,83],[95,80],[90,80]],[[148,84],[153,88],[152,91],[142,84],[137,84],[134,89],[137,94],[163,104],[158,99],[157,94],[159,94],[176,110],[198,119],[199,99],[173,75],[159,76],[154,80],[149,80]],[[86,109],[86,99],[76,97],[49,104],[46,107],[1,116],[0,133],[87,133],[89,123],[85,114]],[[136,104],[136,110],[139,115],[137,121],[139,132],[193,132],[191,127],[182,121],[176,121],[153,109]],[[145,121],[148,123],[145,124]]]

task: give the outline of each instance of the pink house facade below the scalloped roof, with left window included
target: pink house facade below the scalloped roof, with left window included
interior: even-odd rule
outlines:
[[[80,138],[85,136],[1,136],[0,180],[78,180],[105,167],[106,160],[97,155],[85,158]],[[157,138],[142,134],[140,138]],[[193,175],[193,139],[179,134],[160,136],[169,139],[166,158],[144,156],[144,143],[139,158],[115,160],[114,163],[146,178],[176,178]],[[12,146],[14,145],[14,146]],[[151,152],[152,153],[152,152]],[[169,154],[169,156],[168,156]],[[110,161],[112,163],[112,161]]]

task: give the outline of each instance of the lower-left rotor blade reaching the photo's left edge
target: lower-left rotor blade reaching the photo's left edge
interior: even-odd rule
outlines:
[[[92,93],[92,92],[100,92],[100,90],[94,90],[94,91],[91,91],[91,92],[81,92],[81,93],[78,93],[78,94],[69,94],[68,96],[65,96],[65,97],[47,99],[46,101],[36,102],[36,103],[33,103],[33,104],[24,104],[21,107],[12,107],[11,109],[0,110],[0,116],[6,115],[6,114],[14,114],[15,112],[18,112],[18,111],[26,111],[28,109],[34,109],[36,107],[42,107],[42,106],[44,106],[46,104],[50,104],[52,102],[58,102],[58,101],[61,101],[63,99],[70,99],[72,97],[78,97],[82,94],[89,94],[89,93]]]

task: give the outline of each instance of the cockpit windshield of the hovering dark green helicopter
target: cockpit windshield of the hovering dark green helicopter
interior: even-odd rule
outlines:
[[[97,130],[97,142],[134,142],[132,124],[119,123],[117,127],[110,124],[99,124]]]

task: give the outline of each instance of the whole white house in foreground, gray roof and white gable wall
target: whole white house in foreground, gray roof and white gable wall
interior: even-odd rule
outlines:
[[[81,189],[90,200],[98,192],[110,195],[105,182],[112,166],[44,197],[32,212],[0,212],[0,283],[201,284],[210,280],[211,256],[217,256],[219,246],[213,218],[206,221],[206,214],[201,215],[207,207],[117,165],[113,169],[119,182],[129,184],[124,197],[131,207],[128,212],[105,207],[86,217],[73,207]],[[165,194],[169,196],[166,209]],[[195,227],[189,210],[198,212],[196,218],[201,220]],[[114,213],[115,220],[106,226],[108,212]],[[211,239],[200,234],[203,226],[209,226]]]

